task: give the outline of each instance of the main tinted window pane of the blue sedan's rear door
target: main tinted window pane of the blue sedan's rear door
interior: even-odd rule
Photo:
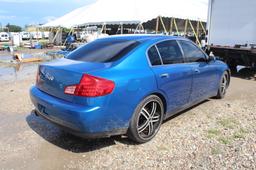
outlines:
[[[183,63],[183,56],[176,41],[164,41],[157,44],[164,64]]]

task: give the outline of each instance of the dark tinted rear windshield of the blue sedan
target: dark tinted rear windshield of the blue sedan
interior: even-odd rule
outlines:
[[[122,58],[139,44],[138,41],[131,40],[99,39],[76,49],[66,58],[85,62],[113,62]]]

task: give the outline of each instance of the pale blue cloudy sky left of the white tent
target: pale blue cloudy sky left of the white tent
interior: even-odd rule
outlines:
[[[96,0],[0,0],[0,26],[44,24]]]

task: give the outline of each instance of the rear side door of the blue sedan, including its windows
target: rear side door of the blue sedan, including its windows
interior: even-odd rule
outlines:
[[[181,49],[175,40],[163,41],[148,50],[158,88],[167,96],[167,113],[185,107],[189,102],[192,70],[184,64]]]

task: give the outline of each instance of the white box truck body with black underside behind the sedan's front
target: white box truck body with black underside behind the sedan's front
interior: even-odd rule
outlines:
[[[256,0],[209,0],[207,44],[236,71],[256,66]]]

